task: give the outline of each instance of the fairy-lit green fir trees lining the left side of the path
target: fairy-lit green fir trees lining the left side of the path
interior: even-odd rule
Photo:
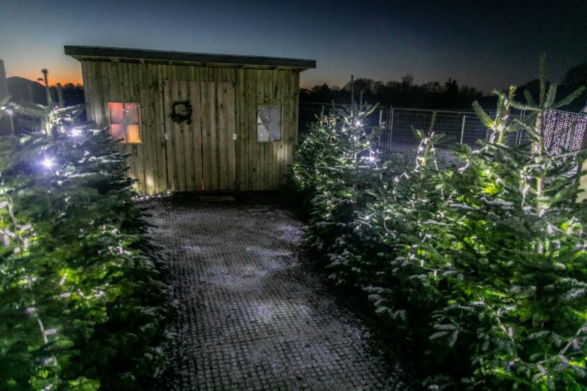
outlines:
[[[79,110],[2,110],[28,125],[0,140],[2,389],[142,389],[162,363],[164,265],[126,157]]]

